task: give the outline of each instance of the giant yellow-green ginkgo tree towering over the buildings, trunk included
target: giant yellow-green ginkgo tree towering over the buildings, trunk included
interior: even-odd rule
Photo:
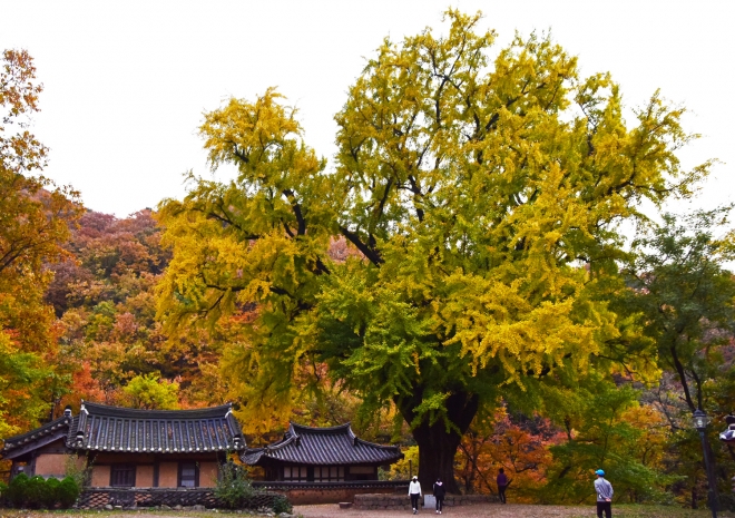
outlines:
[[[275,90],[206,114],[213,167],[238,174],[192,176],[184,201],[161,204],[174,258],[159,316],[186,332],[249,312],[224,361],[246,427],[285,417],[326,372],[364,417],[394,405],[421,482],[457,490],[478,411],[530,407],[546,383],[645,345],[607,303],[620,224],[644,198],[687,196],[707,164],[680,170],[692,136],[658,94],[626,121],[610,77],[580,77],[550,38],[517,36],[493,57],[479,16],[447,19],[445,36],[385,40],[367,61],[330,166]],[[330,258],[335,238],[346,261]]]

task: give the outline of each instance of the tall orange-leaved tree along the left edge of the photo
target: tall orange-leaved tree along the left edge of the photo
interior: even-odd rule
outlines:
[[[53,313],[43,300],[46,268],[68,254],[77,193],[42,175],[47,148],[30,133],[42,87],[24,50],[0,60],[0,433],[45,414],[65,391],[53,365]]]

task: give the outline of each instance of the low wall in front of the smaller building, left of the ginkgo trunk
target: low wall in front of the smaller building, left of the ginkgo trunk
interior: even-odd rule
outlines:
[[[353,501],[357,496],[395,495],[409,490],[409,481],[352,481],[352,482],[253,482],[253,487],[285,495],[297,506],[339,504]]]

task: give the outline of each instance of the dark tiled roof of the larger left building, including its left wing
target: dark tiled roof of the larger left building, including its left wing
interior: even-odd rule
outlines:
[[[232,405],[196,410],[138,410],[82,402],[79,416],[63,416],[6,439],[0,453],[56,434],[68,448],[87,451],[178,453],[245,449]],[[40,444],[39,444],[40,446]]]

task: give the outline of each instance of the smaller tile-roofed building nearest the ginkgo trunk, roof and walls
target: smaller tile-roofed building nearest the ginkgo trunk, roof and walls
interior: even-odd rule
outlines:
[[[266,480],[292,482],[378,480],[380,466],[401,458],[398,447],[357,438],[350,423],[310,428],[293,422],[282,440],[241,456],[244,463],[263,467]]]

